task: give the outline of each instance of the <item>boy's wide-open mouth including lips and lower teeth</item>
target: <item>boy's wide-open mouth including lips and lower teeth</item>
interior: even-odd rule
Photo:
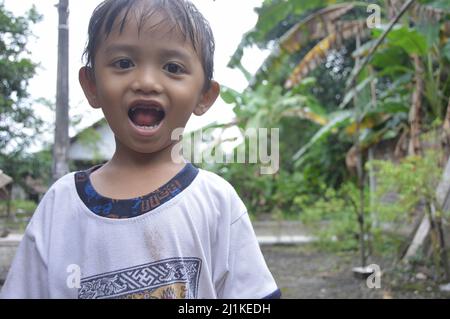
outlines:
[[[139,135],[153,135],[160,127],[166,113],[155,100],[136,100],[128,108],[128,118]]]

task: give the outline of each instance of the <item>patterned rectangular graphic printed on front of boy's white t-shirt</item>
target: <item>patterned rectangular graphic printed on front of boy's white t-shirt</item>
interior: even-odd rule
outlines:
[[[197,298],[201,259],[170,258],[81,280],[79,299]]]

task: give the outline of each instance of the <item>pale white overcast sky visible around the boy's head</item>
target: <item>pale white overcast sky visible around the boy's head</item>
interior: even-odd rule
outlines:
[[[36,24],[32,31],[36,38],[32,38],[28,49],[31,59],[40,63],[37,75],[31,80],[29,92],[33,98],[44,97],[55,101],[56,97],[56,69],[57,69],[57,23],[58,12],[55,7],[57,0],[4,0],[5,6],[14,14],[23,14],[33,4],[42,14],[43,20]],[[69,91],[71,114],[83,114],[81,126],[86,127],[102,117],[99,110],[93,110],[86,102],[78,83],[78,70],[82,66],[81,55],[87,39],[87,26],[94,8],[101,0],[69,1]],[[193,0],[198,9],[211,24],[216,40],[215,79],[222,85],[242,91],[247,82],[240,71],[226,67],[230,56],[239,44],[242,35],[250,30],[257,21],[254,12],[262,0]],[[243,64],[254,72],[262,63],[265,53],[258,49],[245,52]],[[52,121],[54,115],[45,108],[36,105],[40,114]],[[191,130],[216,120],[231,120],[232,107],[218,100],[216,104],[202,117],[192,116],[187,125]],[[70,132],[71,135],[74,132]]]

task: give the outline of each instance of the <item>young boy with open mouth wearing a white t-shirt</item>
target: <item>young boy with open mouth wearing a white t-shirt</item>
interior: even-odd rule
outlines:
[[[210,27],[188,1],[97,7],[79,78],[116,150],[50,188],[2,297],[280,297],[233,187],[172,152],[172,131],[219,94],[213,53]]]

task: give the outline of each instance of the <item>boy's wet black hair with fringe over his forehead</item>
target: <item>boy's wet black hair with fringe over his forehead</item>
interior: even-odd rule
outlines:
[[[105,39],[121,17],[119,32],[123,32],[127,16],[140,3],[148,7],[141,13],[139,28],[153,13],[167,15],[163,23],[172,23],[189,40],[200,58],[205,75],[204,90],[209,89],[214,69],[214,36],[208,21],[188,0],[105,0],[95,8],[89,21],[88,41],[83,53],[86,67],[95,68],[95,54],[100,37]],[[170,20],[169,20],[170,19]],[[169,21],[169,22],[168,22]]]

